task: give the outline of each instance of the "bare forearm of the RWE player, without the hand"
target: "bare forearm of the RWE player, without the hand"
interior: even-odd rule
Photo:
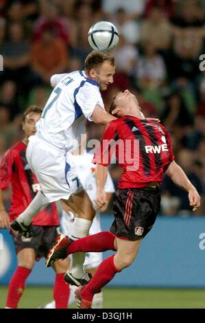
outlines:
[[[167,175],[171,178],[173,183],[177,186],[189,192],[189,190],[195,188],[189,178],[186,176],[184,170],[176,163],[176,161],[171,161],[169,168],[167,169]]]

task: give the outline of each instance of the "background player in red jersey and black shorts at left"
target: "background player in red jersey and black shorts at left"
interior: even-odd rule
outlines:
[[[0,165],[0,228],[8,227],[27,205],[34,199],[40,184],[32,170],[30,170],[25,157],[28,137],[36,132],[36,122],[40,119],[41,109],[36,106],[29,107],[23,115],[23,131],[25,137],[22,142],[17,142],[3,155]],[[9,183],[12,185],[12,198],[9,216],[3,205],[3,189]],[[12,232],[18,267],[10,280],[6,308],[15,309],[25,289],[25,280],[31,274],[35,260],[47,256],[47,252],[58,236],[60,219],[55,203],[51,203],[40,211],[32,221],[32,238],[25,239],[20,234]],[[59,260],[54,264],[56,280],[53,295],[56,308],[67,308],[69,287],[64,282],[64,273],[68,269],[67,261]]]

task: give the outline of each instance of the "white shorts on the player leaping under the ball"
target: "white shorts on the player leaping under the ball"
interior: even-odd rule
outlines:
[[[83,189],[70,153],[64,155],[32,135],[26,157],[49,202],[69,199],[71,194]]]

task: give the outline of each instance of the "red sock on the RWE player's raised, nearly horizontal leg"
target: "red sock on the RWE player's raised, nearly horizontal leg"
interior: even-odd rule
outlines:
[[[67,254],[75,252],[105,252],[114,250],[115,236],[109,231],[99,232],[91,236],[85,236],[75,240],[67,247]]]

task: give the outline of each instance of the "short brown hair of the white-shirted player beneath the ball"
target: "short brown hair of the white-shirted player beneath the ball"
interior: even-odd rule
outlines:
[[[88,54],[86,57],[84,69],[86,72],[90,71],[91,69],[96,69],[97,67],[100,67],[106,60],[110,62],[110,65],[115,66],[114,56],[110,55],[109,53],[93,50],[93,52]]]

